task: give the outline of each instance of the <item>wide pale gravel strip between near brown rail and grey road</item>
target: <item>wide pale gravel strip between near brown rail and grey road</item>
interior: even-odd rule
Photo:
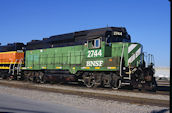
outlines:
[[[168,113],[169,107],[131,104],[113,100],[101,100],[62,93],[43,92],[0,86],[0,93],[48,103],[58,103],[97,113]]]

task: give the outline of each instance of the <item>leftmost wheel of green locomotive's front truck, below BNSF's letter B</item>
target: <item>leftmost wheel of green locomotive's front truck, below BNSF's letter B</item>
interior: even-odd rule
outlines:
[[[90,87],[93,87],[94,84],[95,84],[95,79],[94,79],[94,76],[93,75],[84,75],[83,77],[84,79],[84,84],[90,88]]]

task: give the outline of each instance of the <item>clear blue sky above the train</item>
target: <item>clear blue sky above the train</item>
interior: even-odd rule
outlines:
[[[170,66],[169,0],[0,0],[0,43],[107,26],[125,27],[132,42]]]

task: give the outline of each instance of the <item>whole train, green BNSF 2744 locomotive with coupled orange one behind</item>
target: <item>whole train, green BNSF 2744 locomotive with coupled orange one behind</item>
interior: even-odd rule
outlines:
[[[124,27],[106,27],[0,46],[0,76],[87,87],[131,86],[156,90],[154,63]]]

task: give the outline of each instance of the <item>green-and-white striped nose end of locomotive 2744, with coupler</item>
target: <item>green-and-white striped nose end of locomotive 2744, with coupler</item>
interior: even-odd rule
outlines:
[[[156,81],[154,77],[153,55],[146,56],[149,62],[144,59],[143,46],[139,43],[130,43],[128,45],[128,73],[131,79],[131,85],[134,88],[156,90]]]

